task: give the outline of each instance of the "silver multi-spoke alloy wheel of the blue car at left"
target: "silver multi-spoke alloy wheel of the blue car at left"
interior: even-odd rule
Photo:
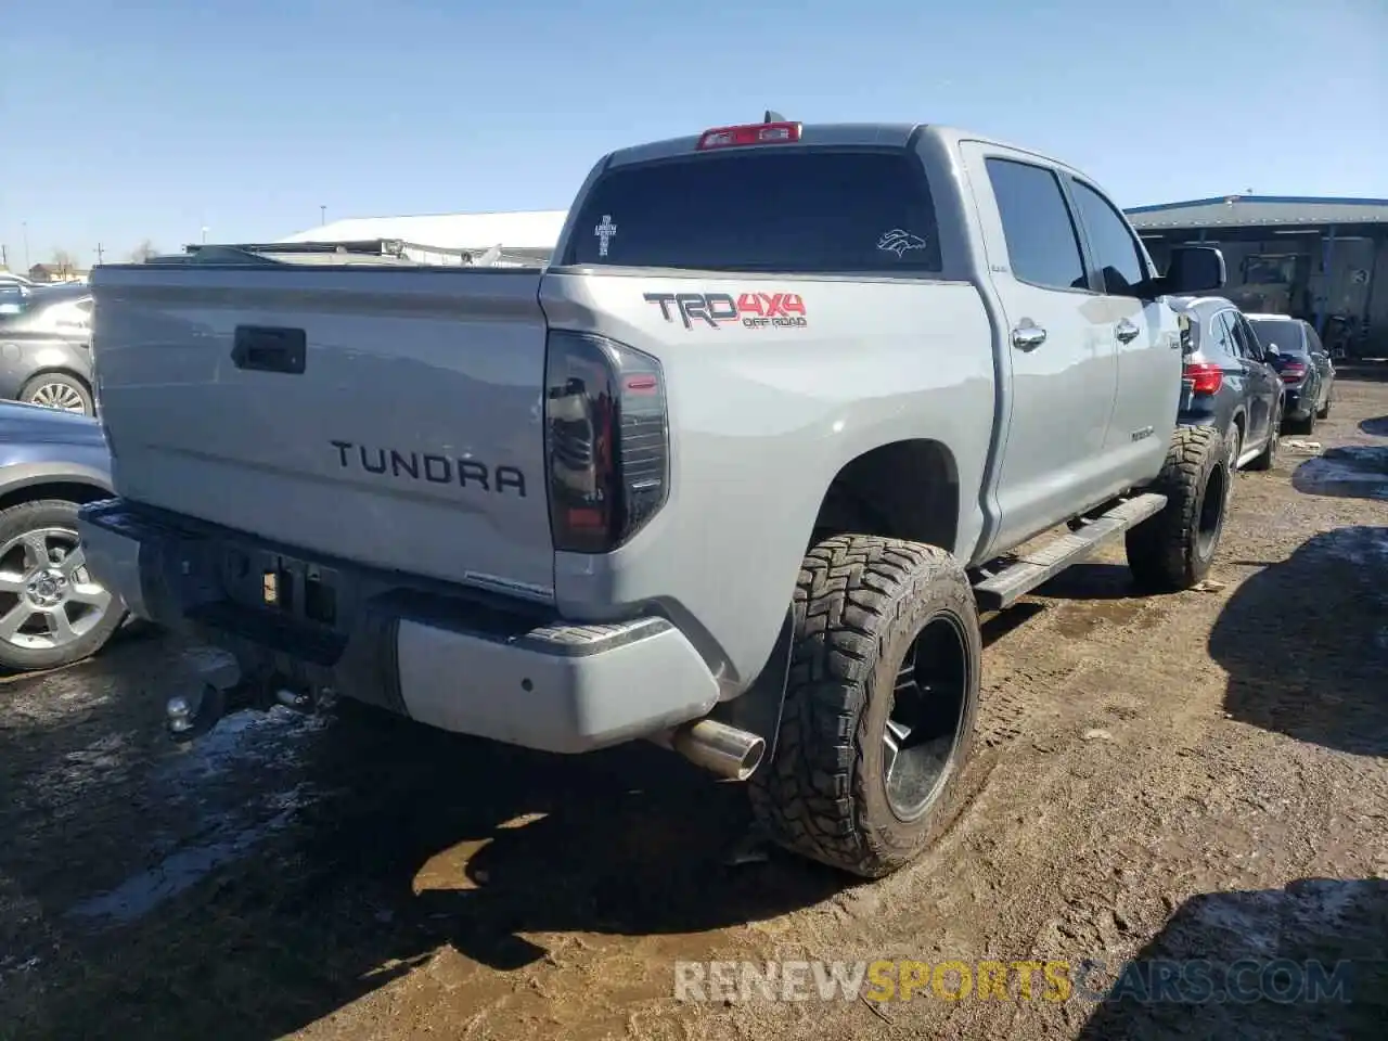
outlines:
[[[53,669],[96,654],[125,616],[96,582],[78,539],[78,504],[0,511],[0,668]]]

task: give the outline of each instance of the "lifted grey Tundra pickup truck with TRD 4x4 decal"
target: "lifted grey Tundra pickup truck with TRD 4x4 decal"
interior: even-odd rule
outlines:
[[[183,737],[341,695],[654,738],[879,876],[945,816],[980,612],[1124,533],[1144,586],[1209,568],[1228,459],[1176,428],[1163,296],[1223,279],[1037,153],[768,114],[604,157],[544,271],[99,268],[82,536],[235,654]]]

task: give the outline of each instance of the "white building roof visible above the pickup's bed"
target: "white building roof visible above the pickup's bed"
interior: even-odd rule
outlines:
[[[403,239],[450,250],[487,250],[497,244],[520,250],[552,250],[568,215],[568,210],[536,210],[514,214],[353,217],[297,232],[279,242]]]

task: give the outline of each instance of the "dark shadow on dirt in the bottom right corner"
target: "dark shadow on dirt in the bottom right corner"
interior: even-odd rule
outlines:
[[[1081,1041],[1348,1041],[1388,1023],[1388,881],[1303,879],[1183,904],[1131,962],[1097,967],[1108,998]]]

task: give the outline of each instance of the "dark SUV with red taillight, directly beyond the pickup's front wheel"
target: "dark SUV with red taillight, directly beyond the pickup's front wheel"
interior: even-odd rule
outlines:
[[[1213,426],[1234,469],[1271,469],[1283,422],[1283,380],[1248,319],[1223,297],[1174,297],[1181,316],[1177,422]]]

